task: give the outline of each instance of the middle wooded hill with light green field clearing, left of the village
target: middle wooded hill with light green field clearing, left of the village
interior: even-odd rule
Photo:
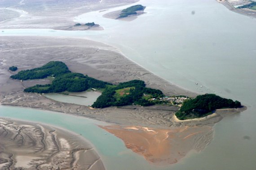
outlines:
[[[162,97],[163,92],[157,89],[147,88],[142,80],[132,80],[119,83],[117,86],[107,86],[102,95],[97,98],[92,107],[106,108],[109,106],[124,105],[154,105],[155,103],[143,98],[143,94],[150,94],[154,97]]]

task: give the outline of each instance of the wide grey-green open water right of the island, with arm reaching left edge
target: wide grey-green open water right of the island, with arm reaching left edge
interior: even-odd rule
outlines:
[[[90,18],[104,31],[30,29],[4,30],[0,35],[72,36],[101,41],[188,90],[240,100],[248,109],[217,123],[214,140],[203,152],[190,153],[167,169],[254,170],[256,19],[233,13],[216,0],[141,0],[139,4],[147,6],[146,14],[132,22],[102,18],[104,12],[87,13],[75,19],[83,22]],[[105,161],[111,162],[111,157]],[[124,167],[157,169],[139,160]]]

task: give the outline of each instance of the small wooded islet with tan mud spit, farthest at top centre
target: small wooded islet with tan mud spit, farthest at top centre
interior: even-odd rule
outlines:
[[[111,18],[111,19],[124,19],[126,17],[138,16],[144,13],[144,9],[146,6],[142,6],[141,4],[133,5],[123,10],[114,11],[110,13],[106,13],[103,17]],[[135,18],[129,19],[129,21]],[[125,20],[128,21],[128,20]]]

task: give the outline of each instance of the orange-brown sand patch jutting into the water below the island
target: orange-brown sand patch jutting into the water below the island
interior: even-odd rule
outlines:
[[[207,139],[212,139],[212,127],[209,126],[181,126],[170,129],[141,126],[100,127],[122,139],[127,148],[156,165],[176,163],[190,150],[202,150],[208,144]],[[206,140],[202,142],[202,139]]]

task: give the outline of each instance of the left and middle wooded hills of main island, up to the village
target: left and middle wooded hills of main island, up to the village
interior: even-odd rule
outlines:
[[[57,92],[83,92],[89,88],[103,89],[102,95],[92,105],[95,108],[124,105],[154,105],[161,103],[155,98],[163,97],[163,92],[157,89],[147,88],[142,80],[132,80],[118,85],[113,85],[88,75],[72,73],[62,61],[50,61],[42,67],[22,70],[18,74],[10,76],[13,79],[28,80],[49,78],[51,84],[35,85],[24,89],[24,92],[57,93]]]

